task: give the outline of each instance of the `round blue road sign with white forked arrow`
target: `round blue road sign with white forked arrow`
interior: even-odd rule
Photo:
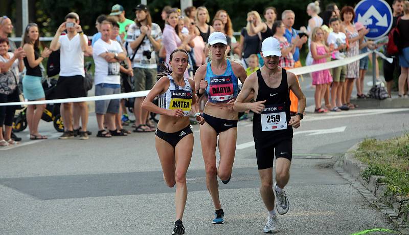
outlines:
[[[393,15],[389,4],[383,0],[362,0],[355,7],[355,22],[369,29],[369,39],[386,35],[392,27]]]

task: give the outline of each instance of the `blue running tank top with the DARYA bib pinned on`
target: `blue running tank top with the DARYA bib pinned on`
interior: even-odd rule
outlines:
[[[233,73],[230,60],[226,60],[226,62],[227,68],[222,75],[214,74],[210,62],[208,62],[205,77],[208,82],[206,93],[212,103],[225,103],[237,97],[238,79]]]

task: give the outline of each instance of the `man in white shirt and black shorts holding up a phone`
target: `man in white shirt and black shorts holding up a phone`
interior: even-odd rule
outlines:
[[[58,27],[50,44],[52,51],[60,50],[60,76],[56,92],[58,98],[85,97],[84,88],[84,52],[88,49],[88,38],[79,25],[79,16],[71,12],[65,16],[65,22]],[[66,30],[67,34],[61,35]],[[71,112],[71,107],[74,110]],[[88,105],[86,102],[63,103],[61,115],[64,120],[64,133],[59,139],[69,139],[80,135],[80,139],[88,139]],[[72,119],[74,116],[74,125]],[[80,132],[79,117],[81,116],[82,129]],[[79,132],[79,133],[78,133]]]

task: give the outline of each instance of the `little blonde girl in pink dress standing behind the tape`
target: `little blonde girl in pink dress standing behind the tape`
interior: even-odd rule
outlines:
[[[316,27],[311,34],[311,55],[313,65],[327,62],[328,57],[332,54],[331,50],[325,45],[324,31]],[[327,113],[328,110],[321,108],[321,101],[324,98],[327,86],[332,82],[332,76],[328,69],[312,72],[312,84],[315,85],[315,110],[314,113]]]

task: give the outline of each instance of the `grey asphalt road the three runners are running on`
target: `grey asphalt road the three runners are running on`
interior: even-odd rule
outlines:
[[[306,79],[307,80],[307,79]],[[307,81],[304,81],[308,83]],[[306,94],[312,90],[303,87]],[[311,96],[308,95],[311,102]],[[351,234],[393,225],[333,169],[356,142],[401,135],[409,109],[307,114],[294,132],[290,210],[279,216],[279,234]],[[174,188],[163,182],[154,133],[58,140],[51,123],[41,123],[49,140],[0,148],[0,234],[170,234],[175,220]],[[187,234],[262,234],[267,212],[259,194],[251,122],[238,127],[233,177],[220,183],[225,224],[214,213],[206,189],[198,127],[187,178]],[[27,139],[27,130],[20,133]],[[382,234],[382,233],[371,233]]]

